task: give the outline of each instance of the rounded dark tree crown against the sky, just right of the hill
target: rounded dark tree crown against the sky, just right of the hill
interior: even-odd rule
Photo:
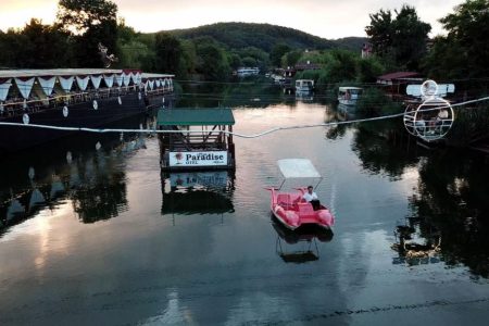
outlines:
[[[389,10],[369,15],[371,25],[365,27],[369,42],[376,54],[393,58],[400,68],[417,70],[431,26],[419,20],[413,7],[404,4],[394,13],[396,18]]]

